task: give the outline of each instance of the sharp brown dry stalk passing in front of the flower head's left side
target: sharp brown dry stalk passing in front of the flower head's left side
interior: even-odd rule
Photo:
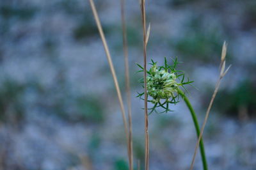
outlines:
[[[145,0],[141,0],[141,17],[143,24],[143,56],[144,56],[144,109],[145,109],[145,170],[148,170],[149,160],[149,139],[148,139],[148,105],[147,105],[147,40],[149,36],[150,27],[146,35],[146,14],[145,14]]]

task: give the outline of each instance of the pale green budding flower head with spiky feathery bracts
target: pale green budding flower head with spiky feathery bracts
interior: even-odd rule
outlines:
[[[150,65],[152,67],[147,71],[147,95],[151,97],[148,102],[154,104],[154,107],[148,108],[148,110],[151,110],[150,113],[152,113],[156,111],[157,107],[162,107],[164,109],[163,112],[171,111],[169,104],[177,104],[179,102],[179,88],[182,87],[186,90],[184,85],[193,81],[188,79],[188,81],[184,82],[184,72],[176,70],[176,66],[179,64],[177,58],[173,59],[173,65],[168,65],[166,58],[164,58],[164,66],[157,66],[156,62],[151,61]],[[141,65],[138,66],[142,69],[138,72],[143,72],[143,67]],[[143,79],[140,82],[143,82]],[[137,97],[140,98],[144,95],[144,93],[138,94]]]

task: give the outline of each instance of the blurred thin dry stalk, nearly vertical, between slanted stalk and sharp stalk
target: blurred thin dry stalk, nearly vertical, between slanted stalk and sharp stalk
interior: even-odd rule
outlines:
[[[128,45],[127,45],[127,31],[125,26],[125,0],[121,0],[121,18],[122,18],[122,33],[123,33],[123,49],[125,61],[125,90],[128,107],[128,125],[129,125],[129,169],[133,169],[133,151],[132,151],[132,111],[131,111],[131,88],[129,75],[129,60],[128,60]]]

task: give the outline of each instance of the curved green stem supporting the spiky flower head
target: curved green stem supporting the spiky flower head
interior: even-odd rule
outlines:
[[[192,119],[194,121],[197,137],[199,137],[199,135],[200,135],[200,127],[199,127],[199,124],[198,124],[198,120],[196,118],[196,113],[195,113],[192,105],[190,104],[188,98],[186,97],[186,95],[184,95],[184,93],[183,93],[183,91],[181,89],[179,89],[179,95],[184,99],[184,102],[188,106],[188,109],[189,109],[189,111],[191,113],[191,116],[192,116]],[[202,164],[203,164],[204,170],[207,170],[208,169],[208,167],[207,167],[207,160],[206,160],[206,157],[205,157],[204,141],[203,141],[202,138],[201,138],[199,144],[200,144],[200,153],[201,153],[201,158],[202,158]]]

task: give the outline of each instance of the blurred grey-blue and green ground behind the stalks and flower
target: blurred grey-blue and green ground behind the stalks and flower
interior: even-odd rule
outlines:
[[[120,1],[95,1],[125,99]],[[134,162],[143,169],[140,5],[127,0]],[[202,125],[228,43],[204,142],[209,169],[256,169],[256,1],[146,1],[148,59],[164,56],[193,85]],[[196,144],[184,102],[149,116],[150,169],[188,169]],[[92,11],[83,0],[0,1],[0,169],[127,169],[120,107]],[[195,169],[202,169],[200,154]]]

